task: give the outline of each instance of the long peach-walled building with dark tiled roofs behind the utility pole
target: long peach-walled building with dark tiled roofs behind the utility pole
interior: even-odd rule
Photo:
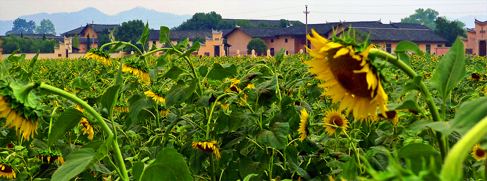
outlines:
[[[387,52],[394,50],[396,45],[404,40],[412,41],[419,45],[425,52],[435,53],[435,48],[443,48],[444,38],[435,34],[427,26],[410,23],[389,23],[383,24],[381,21],[363,22],[327,22],[325,24],[309,24],[308,33],[306,25],[294,25],[285,28],[270,27],[235,27],[228,33],[224,33],[223,38],[231,45],[229,54],[247,52],[247,44],[253,38],[260,38],[267,44],[271,55],[286,48],[287,53],[298,53],[304,50],[306,45],[306,34],[314,29],[318,34],[325,38],[332,38],[333,33],[340,33],[343,30],[354,28],[358,33],[370,35],[373,44],[379,44]],[[308,47],[313,48],[308,41]]]

